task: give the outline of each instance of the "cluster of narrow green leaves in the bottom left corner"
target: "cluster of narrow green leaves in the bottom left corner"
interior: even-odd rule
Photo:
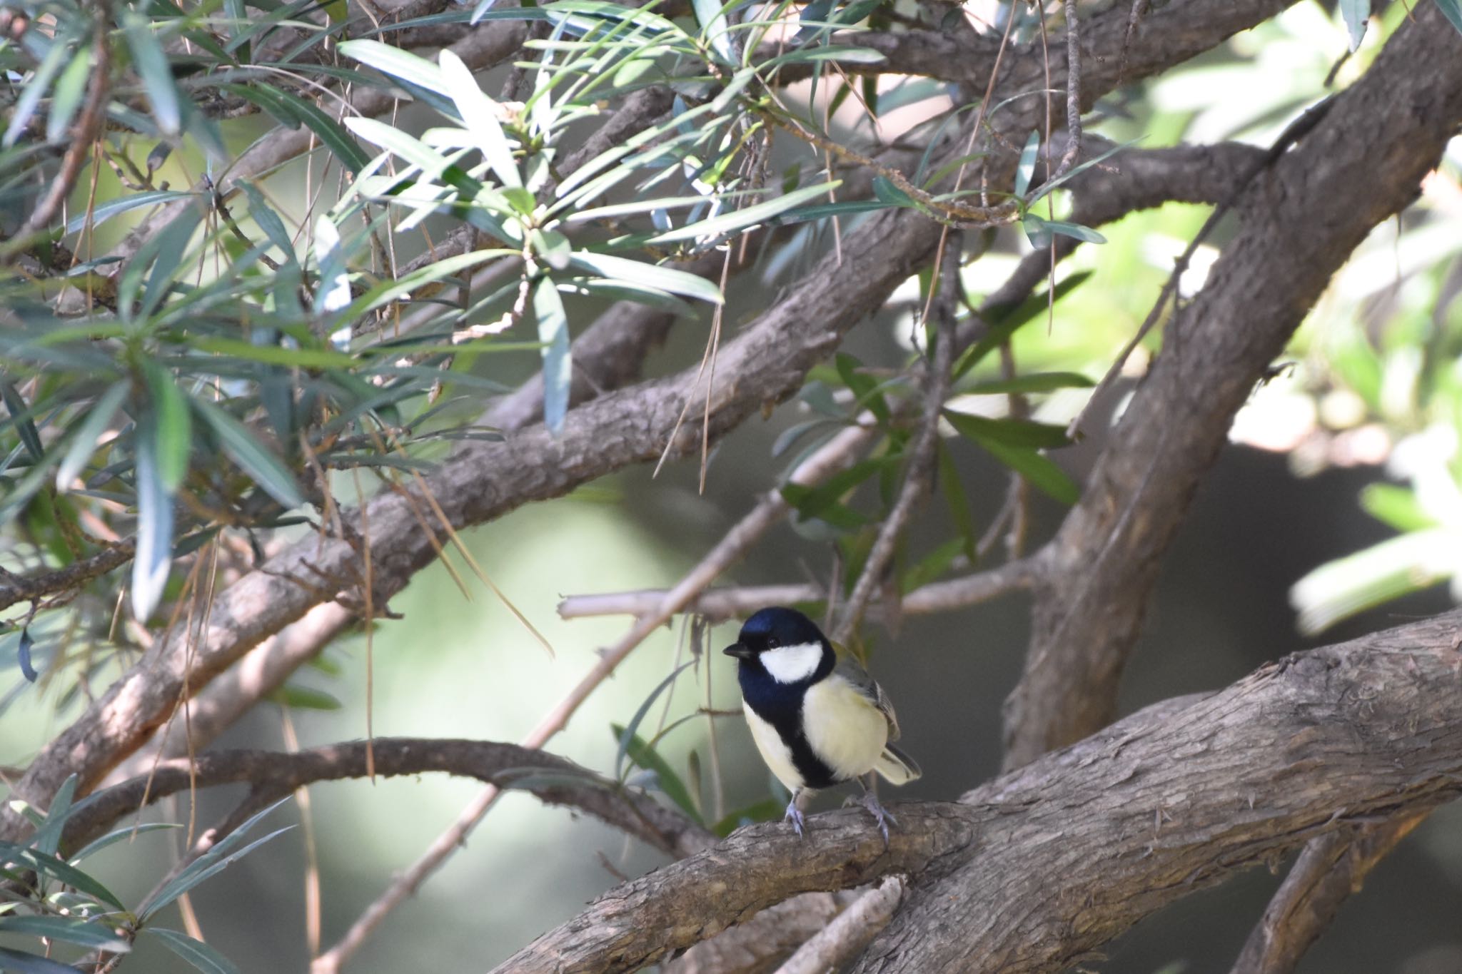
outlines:
[[[0,879],[12,897],[0,904],[0,935],[42,937],[50,943],[75,945],[99,956],[129,954],[139,936],[148,936],[203,974],[237,974],[228,958],[208,943],[180,930],[156,926],[159,914],[199,883],[216,876],[269,840],[289,831],[276,829],[246,843],[249,832],[278,805],[259,812],[238,829],[219,840],[206,853],[159,885],[139,905],[127,908],[99,879],[80,863],[95,853],[142,832],[178,828],[168,822],[149,822],[117,828],[73,853],[61,853],[61,835],[72,818],[95,802],[75,802],[76,777],[57,790],[51,808],[42,815],[18,803],[35,825],[25,844],[0,843]],[[75,974],[70,964],[51,959],[50,949],[34,954],[0,948],[0,968],[18,974]]]

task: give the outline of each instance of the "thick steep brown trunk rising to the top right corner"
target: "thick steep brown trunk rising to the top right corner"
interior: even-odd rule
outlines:
[[[1161,555],[1234,412],[1355,245],[1417,196],[1459,120],[1462,38],[1427,6],[1235,202],[1243,231],[1168,326],[1048,548],[1025,675],[1006,704],[1007,767],[1113,718]]]

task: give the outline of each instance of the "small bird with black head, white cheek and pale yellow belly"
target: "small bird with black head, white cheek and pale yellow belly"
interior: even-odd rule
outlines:
[[[725,654],[740,660],[741,708],[756,749],[792,793],[785,821],[801,835],[811,793],[858,778],[861,803],[887,843],[887,824],[898,822],[863,775],[871,781],[877,772],[890,784],[906,784],[921,772],[889,745],[899,737],[899,721],[883,688],[795,609],[762,609]]]

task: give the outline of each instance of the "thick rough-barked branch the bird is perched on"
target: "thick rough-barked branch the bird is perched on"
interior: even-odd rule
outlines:
[[[499,974],[626,971],[792,894],[886,875],[909,892],[858,971],[1063,970],[1238,869],[1462,793],[1462,612],[1295,653],[1133,714],[956,802],[810,837],[756,825],[611,889]],[[961,936],[930,936],[959,930]]]

